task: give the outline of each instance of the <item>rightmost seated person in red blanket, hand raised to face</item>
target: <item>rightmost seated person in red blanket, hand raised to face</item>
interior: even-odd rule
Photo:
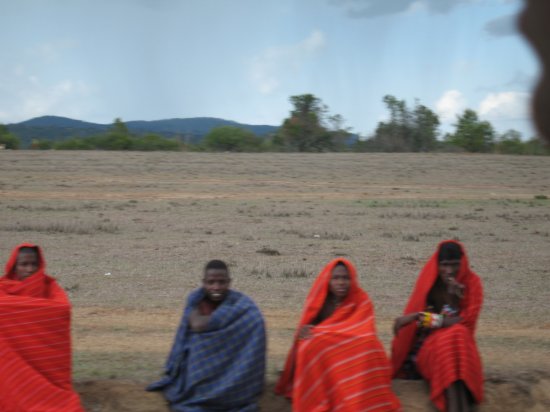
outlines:
[[[403,316],[394,323],[393,376],[424,378],[439,410],[470,411],[483,399],[474,334],[483,302],[464,247],[439,244],[420,272]]]

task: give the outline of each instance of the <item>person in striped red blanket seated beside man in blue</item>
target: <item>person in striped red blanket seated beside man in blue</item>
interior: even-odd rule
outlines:
[[[275,392],[295,412],[401,410],[372,302],[349,261],[332,260],[315,280]]]

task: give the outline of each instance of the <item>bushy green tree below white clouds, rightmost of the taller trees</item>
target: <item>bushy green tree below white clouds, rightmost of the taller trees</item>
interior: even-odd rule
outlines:
[[[495,131],[491,123],[479,120],[477,113],[471,109],[464,110],[455,124],[456,130],[447,136],[447,140],[454,146],[468,152],[489,152],[494,143]]]

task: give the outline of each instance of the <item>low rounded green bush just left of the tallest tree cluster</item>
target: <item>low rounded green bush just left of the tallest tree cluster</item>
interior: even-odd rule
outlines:
[[[213,151],[257,152],[262,147],[262,139],[240,127],[220,126],[204,137],[204,146]]]

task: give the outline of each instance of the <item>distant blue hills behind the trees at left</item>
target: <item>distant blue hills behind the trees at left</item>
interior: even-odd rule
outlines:
[[[278,129],[276,126],[243,124],[214,117],[152,121],[134,120],[125,122],[125,124],[132,133],[156,133],[164,137],[178,137],[189,143],[199,142],[204,135],[218,126],[241,127],[258,136],[266,136]],[[110,124],[90,123],[59,116],[35,117],[24,122],[7,124],[6,126],[21,139],[23,147],[28,146],[33,139],[57,141],[72,137],[87,137],[103,133],[111,127]]]

